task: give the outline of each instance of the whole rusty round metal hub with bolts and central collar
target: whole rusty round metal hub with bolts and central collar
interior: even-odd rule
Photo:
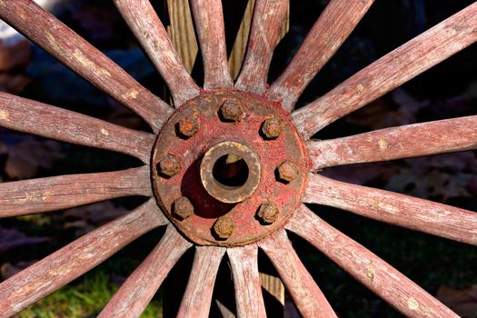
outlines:
[[[309,163],[288,113],[262,96],[205,92],[164,124],[153,150],[158,204],[202,245],[270,234],[301,203]]]

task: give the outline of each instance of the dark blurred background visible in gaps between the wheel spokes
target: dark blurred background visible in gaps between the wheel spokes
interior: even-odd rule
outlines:
[[[141,84],[155,94],[168,98],[163,80],[142,53],[112,2],[39,2]],[[167,25],[169,17],[164,0],[152,2],[164,25]],[[292,1],[289,32],[273,58],[270,82],[280,75],[286,62],[293,57],[326,3],[318,0]],[[377,0],[330,63],[307,87],[298,106],[313,101],[380,56],[472,3],[472,0]],[[246,4],[246,0],[224,0],[225,20],[240,21],[237,13]],[[237,28],[230,27],[229,30],[227,40],[230,52]],[[202,83],[201,67],[198,58],[193,74],[199,84]],[[147,129],[139,117],[5,24],[0,25],[0,90],[93,115],[114,124]],[[471,114],[477,114],[477,45],[452,56],[362,110],[331,124],[315,137],[335,138],[395,125]],[[470,151],[380,164],[356,164],[328,168],[322,174],[353,184],[365,184],[477,211],[476,154]],[[0,129],[0,182],[104,172],[138,165],[140,163],[134,158],[123,154],[62,144]],[[50,214],[0,220],[1,279],[12,276],[75,238],[127,213],[143,201],[141,198],[117,199]],[[457,313],[477,317],[475,247],[381,224],[324,206],[311,207],[324,220],[391,263]],[[94,271],[17,316],[95,316],[134,267],[152,250],[161,234],[162,230],[158,229],[144,235]],[[291,239],[306,268],[320,284],[340,317],[399,316],[393,308],[355,282],[311,245],[292,234]],[[192,256],[191,253],[184,255],[172,277],[180,276],[180,270],[187,270],[187,266],[190,268]],[[266,260],[263,263],[261,266],[270,267]],[[168,278],[164,288],[174,285],[176,289],[182,288],[184,291],[187,275],[183,276],[184,282]],[[230,281],[226,263],[221,266],[218,282],[221,280]],[[174,308],[166,308],[168,304],[164,302],[164,288],[154,297],[144,317],[162,316],[163,311],[174,313]],[[229,302],[229,308],[234,308],[233,299],[224,302]],[[215,307],[214,304],[212,315],[217,316],[219,310]],[[289,315],[293,316],[293,310]]]

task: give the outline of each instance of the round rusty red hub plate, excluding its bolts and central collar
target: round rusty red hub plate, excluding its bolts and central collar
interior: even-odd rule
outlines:
[[[219,109],[225,101],[243,106],[241,121],[221,119]],[[175,124],[182,118],[195,118],[200,124],[199,131],[185,140],[175,132]],[[283,133],[276,139],[266,140],[260,133],[267,118],[279,118],[283,122]],[[208,194],[199,170],[207,151],[217,144],[231,141],[250,149],[261,165],[260,183],[253,194],[237,204],[226,204]],[[283,226],[301,201],[306,172],[309,171],[303,142],[293,128],[290,116],[263,97],[234,91],[204,92],[178,109],[158,135],[152,164],[160,163],[171,154],[179,160],[182,170],[169,178],[153,170],[154,192],[158,203],[179,231],[199,244],[232,246],[250,243]],[[277,167],[284,161],[293,162],[298,172],[288,184],[280,182],[276,175]],[[194,205],[194,214],[183,221],[173,215],[174,201],[181,196],[186,196]],[[280,210],[276,221],[269,225],[256,219],[260,205],[266,202],[273,202]],[[234,221],[234,234],[226,240],[217,240],[213,226],[217,218],[224,215]]]

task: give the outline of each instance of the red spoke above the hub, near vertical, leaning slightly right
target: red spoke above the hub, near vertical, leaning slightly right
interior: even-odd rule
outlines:
[[[235,88],[257,94],[265,92],[268,70],[287,8],[287,0],[256,1],[247,54]]]

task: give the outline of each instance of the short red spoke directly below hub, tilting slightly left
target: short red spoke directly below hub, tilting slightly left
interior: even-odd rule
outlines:
[[[195,247],[194,264],[177,317],[209,316],[215,277],[224,253],[224,247]]]

